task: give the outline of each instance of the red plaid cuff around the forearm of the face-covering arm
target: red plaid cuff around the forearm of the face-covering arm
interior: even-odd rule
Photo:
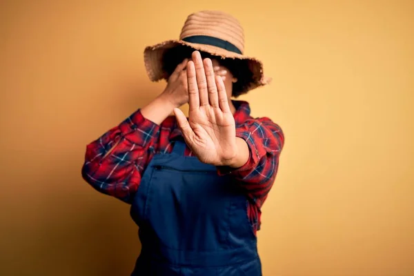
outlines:
[[[159,128],[159,125],[146,119],[141,110],[135,111],[119,124],[122,135],[139,146],[146,146],[159,131]]]

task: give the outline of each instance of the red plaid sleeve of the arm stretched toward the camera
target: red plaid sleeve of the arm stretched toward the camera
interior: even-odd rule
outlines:
[[[275,181],[279,155],[284,146],[284,133],[277,124],[264,117],[248,119],[237,126],[236,136],[244,139],[248,145],[248,161],[240,168],[219,166],[217,172],[219,175],[232,175],[260,207]]]

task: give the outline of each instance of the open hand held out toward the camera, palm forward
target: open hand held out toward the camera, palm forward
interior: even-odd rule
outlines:
[[[186,144],[200,161],[215,166],[235,164],[238,151],[235,119],[223,80],[215,76],[210,59],[203,61],[197,51],[192,57],[186,68],[188,121],[184,113],[175,108],[178,126]]]

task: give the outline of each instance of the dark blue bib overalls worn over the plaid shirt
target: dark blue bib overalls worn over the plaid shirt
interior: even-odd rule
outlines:
[[[262,275],[246,195],[185,149],[175,141],[141,179],[130,208],[142,245],[132,275]]]

